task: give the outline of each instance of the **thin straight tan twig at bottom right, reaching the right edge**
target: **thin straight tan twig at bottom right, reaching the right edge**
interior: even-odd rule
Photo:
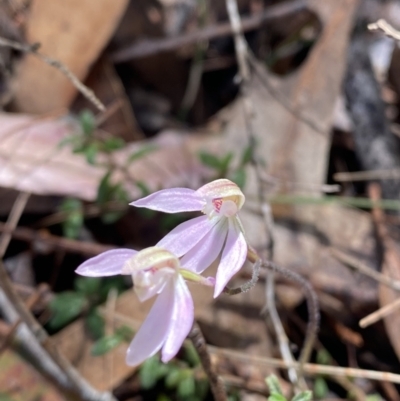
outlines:
[[[293,364],[287,364],[281,359],[263,358],[250,355],[248,353],[245,354],[239,351],[217,348],[210,345],[208,346],[208,351],[213,355],[221,355],[226,358],[242,361],[243,363],[246,364],[256,364],[256,365],[269,366],[281,369],[287,369],[291,367],[299,369],[300,367],[299,362],[294,362]],[[343,368],[340,366],[318,365],[314,363],[306,363],[303,366],[303,369],[304,373],[306,373],[308,376],[329,375],[329,376],[345,376],[354,378],[360,377],[363,379],[388,381],[391,383],[400,384],[400,375],[391,372],[379,372],[376,370]]]

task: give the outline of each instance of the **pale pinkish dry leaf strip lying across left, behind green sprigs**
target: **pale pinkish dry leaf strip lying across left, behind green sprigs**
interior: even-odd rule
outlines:
[[[59,146],[78,130],[72,118],[1,113],[0,127],[0,186],[38,195],[96,199],[106,168],[89,165],[69,146]],[[207,136],[166,131],[154,139],[129,144],[112,156],[113,163],[120,166],[112,179],[125,184],[131,199],[141,196],[135,181],[145,183],[152,191],[174,186],[196,188],[209,175],[196,153],[203,146],[212,149],[214,142]],[[130,164],[128,179],[122,168],[143,146],[155,150]]]

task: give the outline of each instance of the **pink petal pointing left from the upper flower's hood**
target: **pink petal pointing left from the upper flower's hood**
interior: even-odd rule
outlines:
[[[205,201],[193,189],[171,188],[154,192],[145,198],[130,203],[130,205],[165,213],[179,213],[202,210]]]

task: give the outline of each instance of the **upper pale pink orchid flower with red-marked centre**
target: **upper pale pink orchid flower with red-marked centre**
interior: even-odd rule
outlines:
[[[214,290],[217,297],[247,257],[247,242],[238,216],[244,200],[235,183],[220,179],[197,191],[163,189],[131,205],[165,213],[201,211],[205,214],[180,224],[157,246],[182,257],[182,264],[196,273],[203,272],[221,254]]]

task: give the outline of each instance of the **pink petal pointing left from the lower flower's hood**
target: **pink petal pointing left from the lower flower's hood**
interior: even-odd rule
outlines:
[[[82,263],[75,272],[88,277],[115,276],[122,273],[122,268],[127,260],[133,257],[137,251],[133,249],[112,249],[88,259]]]

